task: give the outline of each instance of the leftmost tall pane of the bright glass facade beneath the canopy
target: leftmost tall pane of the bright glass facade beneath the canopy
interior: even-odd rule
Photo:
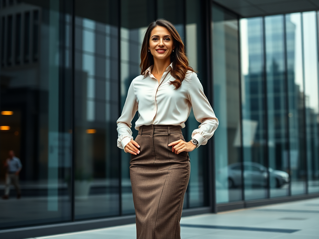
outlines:
[[[241,19],[241,101],[245,165],[266,166],[263,18]],[[267,197],[267,172],[244,169],[245,200]]]

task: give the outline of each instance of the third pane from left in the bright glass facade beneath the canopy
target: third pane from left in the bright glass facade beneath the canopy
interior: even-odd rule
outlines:
[[[306,193],[301,14],[286,15],[286,61],[291,194]]]

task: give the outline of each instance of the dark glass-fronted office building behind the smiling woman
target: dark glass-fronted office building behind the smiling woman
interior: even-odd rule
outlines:
[[[319,6],[231,2],[0,1],[1,195],[9,151],[22,163],[21,198],[11,185],[0,200],[1,238],[134,222],[116,120],[157,18],[174,23],[219,119],[189,153],[183,214],[319,196]],[[185,139],[199,124],[191,113]]]

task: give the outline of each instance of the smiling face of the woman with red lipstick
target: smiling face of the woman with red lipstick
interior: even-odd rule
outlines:
[[[166,27],[156,26],[153,28],[149,40],[149,47],[154,58],[167,59],[174,50],[174,40]]]

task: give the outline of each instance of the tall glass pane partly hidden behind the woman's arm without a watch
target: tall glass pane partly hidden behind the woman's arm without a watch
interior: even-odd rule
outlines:
[[[121,1],[121,109],[124,106],[131,81],[141,74],[139,65],[141,63],[142,41],[147,26],[155,20],[154,11],[153,1]],[[131,130],[134,139],[138,133],[134,129],[137,119],[138,113],[132,120]],[[129,153],[121,150],[122,214],[135,213],[130,181],[130,158]]]

